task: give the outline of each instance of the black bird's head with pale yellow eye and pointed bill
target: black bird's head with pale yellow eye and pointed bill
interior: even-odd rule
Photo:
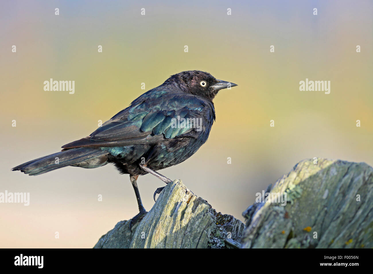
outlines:
[[[166,80],[166,84],[178,84],[187,93],[200,95],[213,100],[220,89],[236,86],[231,82],[218,80],[208,72],[200,70],[188,70],[172,75]]]

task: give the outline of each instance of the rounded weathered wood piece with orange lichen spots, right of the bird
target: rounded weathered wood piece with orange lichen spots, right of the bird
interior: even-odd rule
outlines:
[[[243,215],[242,248],[373,248],[373,169],[365,163],[304,160],[271,192],[287,204],[256,203]]]

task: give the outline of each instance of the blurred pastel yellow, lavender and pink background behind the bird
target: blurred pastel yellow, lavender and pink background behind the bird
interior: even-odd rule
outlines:
[[[91,248],[137,214],[129,176],[112,165],[35,177],[10,169],[89,135],[142,82],[148,90],[183,70],[238,84],[215,98],[207,143],[162,171],[217,211],[243,220],[255,193],[305,158],[373,165],[372,3],[1,1],[0,192],[30,192],[30,205],[0,204],[0,247]],[[50,78],[75,81],[75,94],[44,91]],[[305,78],[331,81],[330,94],[299,91]],[[163,182],[138,183],[150,210]]]

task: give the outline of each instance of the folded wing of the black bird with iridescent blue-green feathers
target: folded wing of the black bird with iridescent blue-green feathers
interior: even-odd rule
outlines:
[[[157,139],[175,138],[195,130],[192,118],[201,117],[205,120],[204,114],[211,110],[211,106],[204,100],[188,94],[164,94],[159,98],[147,96],[138,99],[103,123],[90,136],[62,148],[146,144],[154,136]],[[191,123],[185,123],[185,126],[177,124],[178,120],[182,121],[181,118],[189,118]]]

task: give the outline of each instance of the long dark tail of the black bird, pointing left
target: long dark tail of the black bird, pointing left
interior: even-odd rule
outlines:
[[[29,175],[39,175],[67,166],[100,167],[108,163],[107,154],[107,151],[102,151],[100,148],[71,148],[23,163],[13,167],[12,170],[20,170]]]

